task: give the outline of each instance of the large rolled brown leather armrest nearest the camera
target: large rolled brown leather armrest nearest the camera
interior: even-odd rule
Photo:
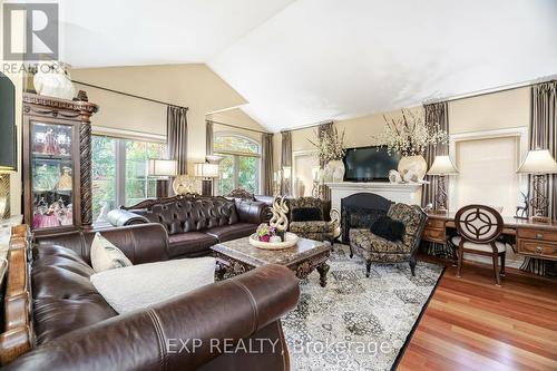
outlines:
[[[20,357],[7,370],[197,370],[226,353],[224,344],[235,349],[240,340],[278,321],[299,297],[292,271],[265,265],[69,332]]]

